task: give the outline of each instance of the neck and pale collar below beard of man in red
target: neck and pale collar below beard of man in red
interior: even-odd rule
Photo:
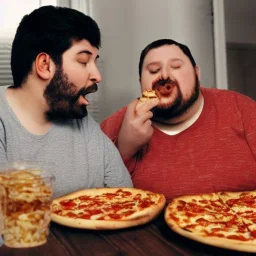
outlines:
[[[182,116],[159,122],[154,121],[153,125],[166,134],[178,134],[186,130],[198,119],[198,117],[202,113],[203,106],[204,97],[200,91],[195,103]]]

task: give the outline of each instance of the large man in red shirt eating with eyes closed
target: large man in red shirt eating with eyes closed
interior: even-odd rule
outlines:
[[[179,195],[256,189],[256,103],[237,92],[203,88],[187,46],[149,44],[139,62],[141,90],[102,130],[118,147],[137,188]]]

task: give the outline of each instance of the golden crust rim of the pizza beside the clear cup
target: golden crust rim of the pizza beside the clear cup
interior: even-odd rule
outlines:
[[[94,188],[94,189],[85,189],[80,190],[66,196],[57,198],[53,200],[52,205],[58,204],[60,201],[68,200],[72,198],[77,198],[80,196],[96,196],[101,195],[103,193],[115,193],[120,188]],[[121,188],[124,191],[132,192],[133,194],[137,193],[146,193],[148,191],[135,189],[135,188]],[[150,192],[152,193],[152,192]],[[96,229],[96,230],[111,230],[111,229],[120,229],[120,228],[128,228],[133,226],[138,226],[145,224],[154,218],[162,211],[165,205],[165,197],[160,194],[156,194],[159,196],[157,204],[151,205],[148,208],[145,208],[141,211],[135,212],[130,216],[126,217],[126,219],[121,220],[92,220],[92,219],[82,219],[82,218],[70,218],[65,216],[60,216],[54,212],[51,214],[52,221],[69,227],[74,228],[82,228],[82,229]]]

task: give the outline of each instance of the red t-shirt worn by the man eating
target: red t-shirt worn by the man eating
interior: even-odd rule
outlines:
[[[179,195],[256,189],[256,103],[236,92],[201,88],[204,107],[186,130],[154,128],[140,159],[124,159],[137,188]],[[102,130],[116,142],[126,108]]]

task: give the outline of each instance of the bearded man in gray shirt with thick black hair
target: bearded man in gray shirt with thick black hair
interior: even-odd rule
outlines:
[[[87,113],[97,90],[100,31],[72,9],[41,7],[12,45],[13,86],[0,89],[0,162],[53,163],[55,197],[90,187],[131,187],[112,142]]]

